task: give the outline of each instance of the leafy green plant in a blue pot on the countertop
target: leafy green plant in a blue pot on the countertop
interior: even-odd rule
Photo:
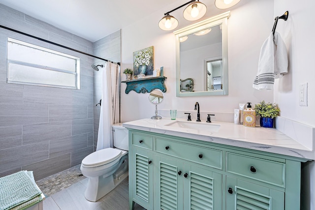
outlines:
[[[261,101],[255,105],[256,115],[260,116],[260,126],[265,128],[274,127],[274,118],[279,115],[280,109],[277,104]]]

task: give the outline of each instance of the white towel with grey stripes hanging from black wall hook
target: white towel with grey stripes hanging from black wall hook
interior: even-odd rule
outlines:
[[[258,90],[272,90],[275,79],[287,73],[287,51],[281,35],[271,32],[261,47],[258,72],[252,87]]]

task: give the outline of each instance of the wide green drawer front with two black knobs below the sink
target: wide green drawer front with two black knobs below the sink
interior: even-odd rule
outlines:
[[[202,165],[222,169],[222,151],[220,150],[157,138],[156,151]]]

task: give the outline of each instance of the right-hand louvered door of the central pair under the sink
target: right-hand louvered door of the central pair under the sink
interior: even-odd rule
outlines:
[[[222,174],[194,165],[184,164],[184,210],[222,210]]]

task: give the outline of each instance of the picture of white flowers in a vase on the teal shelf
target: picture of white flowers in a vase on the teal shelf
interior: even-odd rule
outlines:
[[[153,75],[154,52],[153,46],[133,52],[133,75]]]

